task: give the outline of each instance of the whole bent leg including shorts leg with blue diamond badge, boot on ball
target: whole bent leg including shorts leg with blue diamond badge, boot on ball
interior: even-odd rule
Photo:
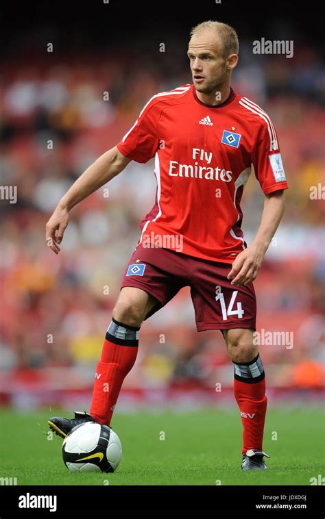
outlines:
[[[121,385],[136,359],[141,322],[166,305],[188,283],[187,260],[167,249],[137,246],[125,269],[122,288],[97,364],[90,414],[55,416],[49,427],[64,438],[75,425],[97,421],[110,425]]]

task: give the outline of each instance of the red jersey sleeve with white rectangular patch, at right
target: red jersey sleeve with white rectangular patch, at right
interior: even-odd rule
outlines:
[[[252,164],[256,179],[265,194],[288,189],[278,145],[278,135],[272,121],[266,114],[256,132]]]

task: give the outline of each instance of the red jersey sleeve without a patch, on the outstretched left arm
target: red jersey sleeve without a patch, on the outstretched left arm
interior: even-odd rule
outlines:
[[[143,107],[132,128],[117,144],[117,149],[136,162],[147,162],[154,157],[158,146],[158,121],[161,106],[156,99],[151,99]]]

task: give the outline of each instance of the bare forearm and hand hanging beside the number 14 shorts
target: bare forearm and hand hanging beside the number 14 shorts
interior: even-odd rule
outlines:
[[[232,279],[232,285],[248,285],[252,283],[261,268],[265,253],[269,244],[278,229],[278,225],[285,212],[285,192],[284,190],[274,191],[265,194],[264,208],[261,224],[256,236],[250,246],[241,252],[234,262],[228,274],[228,279]]]

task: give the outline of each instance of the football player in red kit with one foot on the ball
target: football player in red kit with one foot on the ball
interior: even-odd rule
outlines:
[[[123,379],[134,365],[143,320],[191,287],[197,331],[220,330],[234,365],[234,397],[243,426],[243,470],[266,469],[265,373],[254,344],[253,281],[280,223],[287,188],[278,136],[269,116],[230,87],[237,34],[206,21],[191,31],[193,84],[149,99],[117,146],[101,155],[62,197],[47,223],[47,244],[60,251],[69,212],[121,173],[131,160],[155,157],[156,201],[125,268],[97,365],[89,414],[53,417],[64,438],[75,425],[110,425]],[[265,194],[261,223],[247,246],[240,201],[251,173]],[[104,391],[104,388],[109,388]]]

